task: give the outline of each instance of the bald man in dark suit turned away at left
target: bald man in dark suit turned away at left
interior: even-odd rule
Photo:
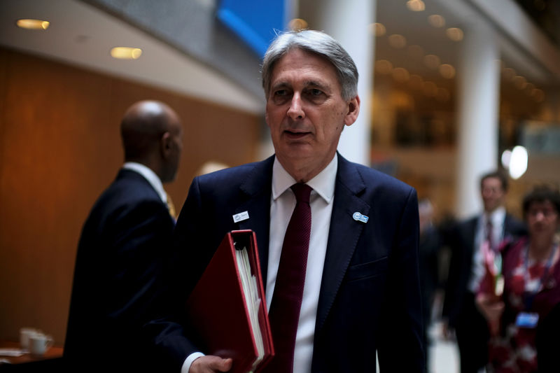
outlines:
[[[64,346],[72,372],[145,366],[139,330],[156,317],[165,289],[175,220],[162,183],[176,176],[183,129],[166,104],[139,101],[120,131],[125,164],[95,202],[78,245]]]

